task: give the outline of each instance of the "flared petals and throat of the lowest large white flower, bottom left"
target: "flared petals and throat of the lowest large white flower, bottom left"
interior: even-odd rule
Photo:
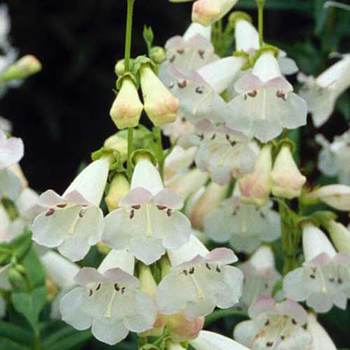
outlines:
[[[120,268],[98,272],[82,268],[75,277],[79,285],[61,300],[62,319],[78,330],[91,327],[94,337],[109,345],[129,333],[152,328],[156,308],[139,290],[137,278]]]

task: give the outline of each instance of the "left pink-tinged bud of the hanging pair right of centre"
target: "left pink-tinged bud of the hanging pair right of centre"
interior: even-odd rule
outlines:
[[[264,205],[271,192],[272,155],[271,145],[265,145],[256,160],[254,171],[239,180],[244,202]]]

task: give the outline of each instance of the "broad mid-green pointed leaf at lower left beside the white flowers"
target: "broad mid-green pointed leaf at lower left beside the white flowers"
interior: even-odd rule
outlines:
[[[15,292],[11,295],[11,300],[16,311],[25,317],[34,332],[38,334],[39,314],[47,300],[46,287],[38,287],[29,293]]]

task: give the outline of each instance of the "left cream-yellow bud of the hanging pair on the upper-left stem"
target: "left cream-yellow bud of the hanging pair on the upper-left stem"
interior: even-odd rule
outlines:
[[[138,125],[142,110],[134,82],[129,77],[124,78],[110,110],[112,120],[118,129],[133,128]]]

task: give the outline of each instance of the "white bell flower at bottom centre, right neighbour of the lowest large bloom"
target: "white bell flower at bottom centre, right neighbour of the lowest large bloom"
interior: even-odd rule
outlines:
[[[163,314],[183,312],[187,319],[210,314],[217,306],[235,305],[242,292],[243,274],[233,266],[232,250],[209,252],[194,236],[177,251],[168,252],[170,272],[157,288],[157,304]]]

